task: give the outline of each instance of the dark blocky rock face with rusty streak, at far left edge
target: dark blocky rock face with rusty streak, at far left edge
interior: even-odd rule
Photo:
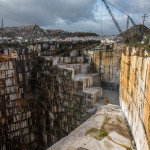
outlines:
[[[5,49],[8,56],[12,49]],[[0,149],[35,148],[34,105],[27,104],[37,51],[18,49],[18,58],[0,63]],[[33,59],[34,58],[34,59]],[[31,65],[32,64],[32,65]],[[25,101],[24,101],[25,100]]]

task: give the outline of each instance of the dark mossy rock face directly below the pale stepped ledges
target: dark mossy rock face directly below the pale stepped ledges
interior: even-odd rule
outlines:
[[[38,140],[45,145],[54,144],[83,123],[92,106],[86,101],[83,82],[72,79],[74,69],[59,68],[53,65],[54,59],[40,57],[31,78],[31,89],[38,100]]]

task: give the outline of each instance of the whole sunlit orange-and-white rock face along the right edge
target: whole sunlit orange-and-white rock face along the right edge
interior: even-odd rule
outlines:
[[[150,148],[150,55],[141,48],[122,53],[120,104],[138,150]]]

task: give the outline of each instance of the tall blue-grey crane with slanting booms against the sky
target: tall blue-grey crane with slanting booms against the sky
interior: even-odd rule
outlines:
[[[114,24],[116,25],[116,27],[117,27],[119,33],[122,33],[122,30],[121,30],[121,28],[120,28],[118,22],[116,21],[116,19],[115,19],[114,15],[113,15],[113,13],[112,13],[112,11],[111,11],[109,5],[111,5],[112,7],[116,8],[116,9],[118,9],[120,12],[122,12],[123,14],[125,14],[125,15],[127,16],[127,26],[126,26],[126,27],[127,27],[127,30],[128,30],[128,28],[129,28],[129,21],[131,21],[131,23],[132,23],[133,26],[135,27],[136,31],[137,31],[139,34],[142,34],[141,31],[139,30],[139,28],[136,26],[136,24],[135,24],[135,22],[133,21],[133,19],[132,19],[128,14],[126,14],[126,13],[123,12],[121,9],[117,8],[116,6],[114,6],[113,4],[109,3],[109,2],[106,1],[106,0],[102,0],[102,2],[105,4],[105,7],[106,7],[106,9],[108,10],[108,13],[110,14],[110,16],[111,16],[111,18],[112,18]],[[109,4],[109,5],[108,5],[108,4]]]

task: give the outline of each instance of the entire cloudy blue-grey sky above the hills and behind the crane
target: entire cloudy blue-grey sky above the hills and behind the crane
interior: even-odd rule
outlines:
[[[144,13],[150,15],[149,0],[108,0],[129,14],[136,24]],[[110,7],[122,30],[127,17]],[[4,26],[37,24],[47,29],[118,34],[102,0],[0,0],[0,19]],[[145,25],[150,28],[150,16]]]

